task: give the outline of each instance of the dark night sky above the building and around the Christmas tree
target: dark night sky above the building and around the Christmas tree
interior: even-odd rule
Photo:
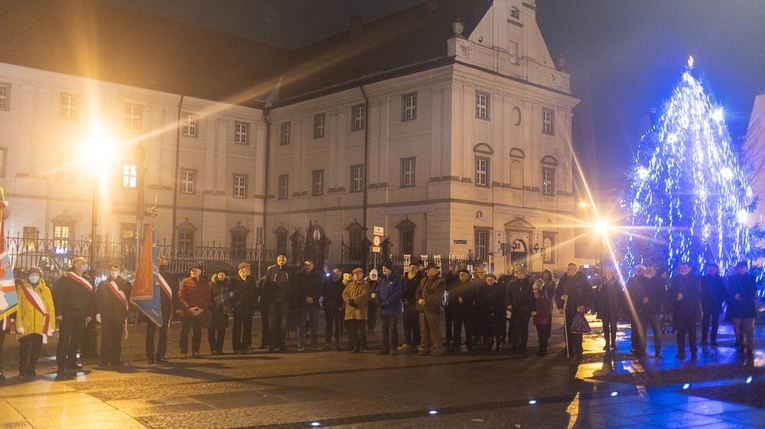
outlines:
[[[101,0],[244,38],[296,48],[422,0]],[[689,55],[734,143],[765,93],[764,0],[537,0],[553,58],[571,73],[573,141],[595,189],[624,182],[647,113],[661,107]]]

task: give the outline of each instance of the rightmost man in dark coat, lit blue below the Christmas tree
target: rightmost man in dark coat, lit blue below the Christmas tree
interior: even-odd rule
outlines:
[[[733,317],[739,353],[754,357],[754,321],[757,318],[757,283],[746,261],[736,264],[736,273],[728,277],[728,308]]]

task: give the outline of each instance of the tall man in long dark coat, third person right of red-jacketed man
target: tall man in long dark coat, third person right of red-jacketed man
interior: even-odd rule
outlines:
[[[292,268],[287,266],[287,255],[277,256],[276,265],[271,265],[266,271],[262,295],[268,303],[268,351],[270,353],[276,350],[287,351],[285,339],[293,280]]]

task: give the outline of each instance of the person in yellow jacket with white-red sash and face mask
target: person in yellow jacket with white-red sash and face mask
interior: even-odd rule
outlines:
[[[34,377],[42,345],[56,329],[56,312],[40,269],[30,268],[27,276],[18,288],[16,333],[19,338],[19,376]]]

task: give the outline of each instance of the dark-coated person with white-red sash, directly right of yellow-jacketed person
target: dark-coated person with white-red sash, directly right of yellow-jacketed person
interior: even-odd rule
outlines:
[[[93,285],[83,277],[88,270],[88,260],[82,256],[74,258],[72,266],[56,282],[54,304],[59,322],[59,338],[56,347],[56,373],[65,377],[67,371],[81,371],[77,363],[85,326],[93,320]]]

